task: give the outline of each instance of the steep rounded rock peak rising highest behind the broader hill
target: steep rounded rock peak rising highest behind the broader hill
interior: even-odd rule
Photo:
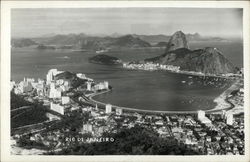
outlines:
[[[166,47],[166,52],[176,50],[178,48],[189,48],[186,35],[182,31],[175,32]]]

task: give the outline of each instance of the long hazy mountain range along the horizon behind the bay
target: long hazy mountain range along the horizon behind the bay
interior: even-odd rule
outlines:
[[[167,35],[119,35],[117,33],[111,36],[90,36],[84,33],[67,34],[67,35],[45,35],[37,38],[13,38],[12,47],[26,47],[30,45],[56,46],[57,48],[73,48],[86,50],[101,50],[107,48],[137,48],[137,47],[162,47],[170,40],[171,36]],[[200,34],[186,34],[188,41],[206,41],[225,39],[215,37],[202,37]]]

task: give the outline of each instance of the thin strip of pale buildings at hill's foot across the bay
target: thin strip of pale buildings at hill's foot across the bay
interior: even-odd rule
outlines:
[[[124,68],[128,69],[140,69],[140,70],[167,70],[173,72],[179,72],[180,67],[174,65],[162,65],[159,63],[142,63],[142,64],[135,64],[135,63],[123,63]]]

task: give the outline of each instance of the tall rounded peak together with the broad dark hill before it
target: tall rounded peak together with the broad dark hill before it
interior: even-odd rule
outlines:
[[[237,72],[237,68],[216,48],[207,47],[194,51],[188,49],[187,38],[181,31],[171,37],[163,55],[144,61],[179,66],[181,70],[204,74],[219,75]]]

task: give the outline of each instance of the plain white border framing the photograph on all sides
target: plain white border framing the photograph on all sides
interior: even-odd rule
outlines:
[[[243,8],[245,74],[245,155],[213,156],[18,156],[10,155],[10,9],[93,7]],[[1,161],[250,161],[249,158],[249,2],[248,1],[3,1],[1,2]]]

